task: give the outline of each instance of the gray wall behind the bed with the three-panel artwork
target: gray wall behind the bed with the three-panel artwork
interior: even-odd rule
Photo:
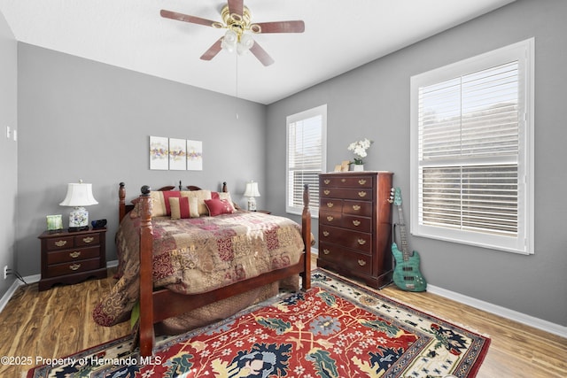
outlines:
[[[89,220],[108,220],[108,260],[116,259],[120,181],[128,200],[144,184],[158,189],[180,180],[206,189],[227,181],[240,204],[245,181],[265,191],[264,105],[26,43],[18,58],[21,274],[40,272],[45,216],[63,214],[67,227],[70,209],[58,205],[67,182],[92,183],[99,204],[89,206]],[[150,135],[203,141],[203,171],[150,170]]]

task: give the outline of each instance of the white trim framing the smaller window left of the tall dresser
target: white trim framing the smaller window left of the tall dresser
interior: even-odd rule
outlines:
[[[289,200],[289,180],[290,180],[290,164],[289,164],[289,127],[291,123],[297,122],[299,120],[307,120],[312,117],[322,116],[322,135],[321,135],[321,143],[322,143],[322,167],[321,173],[327,172],[327,104],[323,104],[317,106],[315,108],[308,109],[307,111],[291,114],[287,116],[285,119],[285,212],[301,215],[303,212],[303,206],[300,208],[298,206],[290,206]],[[312,218],[319,218],[319,198],[314,198],[313,196],[309,197],[309,208],[311,209],[311,217]]]

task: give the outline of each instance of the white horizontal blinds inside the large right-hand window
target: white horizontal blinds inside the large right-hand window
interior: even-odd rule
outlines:
[[[419,220],[518,232],[518,62],[418,91]]]

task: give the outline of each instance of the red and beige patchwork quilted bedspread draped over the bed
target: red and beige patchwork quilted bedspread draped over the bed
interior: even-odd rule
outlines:
[[[297,223],[260,212],[183,220],[156,217],[151,224],[154,287],[182,294],[203,293],[297,264],[304,250]],[[139,225],[139,218],[129,216],[120,223],[120,279],[93,312],[100,325],[127,320],[138,300]]]

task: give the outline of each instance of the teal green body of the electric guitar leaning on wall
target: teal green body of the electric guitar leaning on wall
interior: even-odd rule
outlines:
[[[404,259],[404,255],[398,249],[398,245],[392,243],[392,255],[396,260],[396,267],[393,269],[393,283],[402,290],[425,291],[427,282],[425,282],[419,270],[419,253],[413,251],[411,256]]]

